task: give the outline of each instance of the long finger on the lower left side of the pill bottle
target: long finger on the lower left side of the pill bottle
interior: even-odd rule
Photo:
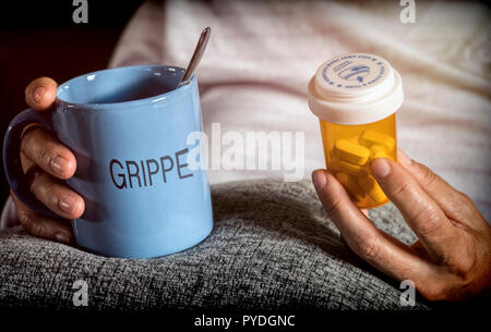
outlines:
[[[312,182],[344,241],[363,260],[398,280],[415,280],[416,271],[430,269],[408,246],[380,232],[332,174],[316,170],[312,173]]]

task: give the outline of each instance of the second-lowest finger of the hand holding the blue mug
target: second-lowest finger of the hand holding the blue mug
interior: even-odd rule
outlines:
[[[33,169],[32,173],[31,192],[48,209],[65,219],[82,216],[85,209],[82,196],[38,168]]]

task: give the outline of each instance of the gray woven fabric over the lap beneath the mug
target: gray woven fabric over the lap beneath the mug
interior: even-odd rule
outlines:
[[[403,306],[399,283],[359,259],[339,238],[310,182],[236,182],[212,186],[214,230],[185,251],[117,259],[0,233],[0,304],[91,309],[428,309]],[[392,204],[370,211],[376,226],[416,239]],[[79,303],[80,304],[80,303]]]

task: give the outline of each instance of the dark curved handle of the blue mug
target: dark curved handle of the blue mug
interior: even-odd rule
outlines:
[[[33,211],[49,218],[60,218],[40,202],[31,193],[27,179],[21,164],[21,138],[24,127],[28,124],[41,124],[49,131],[53,131],[52,112],[39,112],[27,109],[19,113],[9,124],[3,139],[3,169],[7,181],[15,196]]]

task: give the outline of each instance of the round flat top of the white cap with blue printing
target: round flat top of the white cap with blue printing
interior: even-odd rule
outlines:
[[[379,85],[387,76],[386,61],[372,54],[355,53],[340,56],[322,67],[325,89],[348,93]]]

